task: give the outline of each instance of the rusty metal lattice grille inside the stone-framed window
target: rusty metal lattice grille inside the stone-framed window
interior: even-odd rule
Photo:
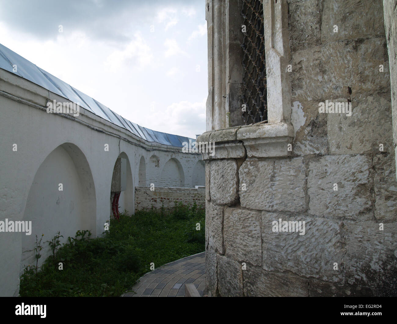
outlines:
[[[241,15],[246,26],[241,44],[244,51],[241,99],[246,105],[247,111],[243,111],[243,120],[247,125],[268,119],[262,0],[243,0]]]

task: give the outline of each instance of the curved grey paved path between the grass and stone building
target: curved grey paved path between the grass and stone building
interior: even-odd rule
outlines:
[[[185,297],[185,284],[193,283],[200,296],[205,287],[205,252],[184,257],[144,274],[121,297]]]

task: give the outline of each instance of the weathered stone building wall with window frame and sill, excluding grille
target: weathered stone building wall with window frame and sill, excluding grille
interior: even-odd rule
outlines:
[[[234,58],[241,55],[241,1],[206,1],[207,132],[198,141],[216,142],[215,156],[203,154],[206,289],[214,296],[396,295],[397,181],[382,1],[263,6],[268,123],[240,126],[233,117],[227,127],[227,112],[239,116],[241,109],[233,92],[242,84]],[[351,101],[352,115],[319,113],[326,100]],[[305,221],[305,234],[273,232],[279,219]]]

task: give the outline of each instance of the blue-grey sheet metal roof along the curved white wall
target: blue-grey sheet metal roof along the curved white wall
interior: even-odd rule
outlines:
[[[13,65],[17,65],[17,72],[13,71]],[[157,132],[148,128],[139,126],[129,120],[121,117],[116,112],[110,110],[102,103],[96,101],[85,93],[73,88],[66,82],[58,79],[56,76],[40,69],[21,55],[13,52],[0,44],[0,69],[16,74],[26,80],[29,80],[43,88],[50,90],[74,103],[79,103],[83,107],[97,116],[116,124],[131,133],[145,139],[149,142],[157,142],[164,145],[183,147],[183,142],[189,142],[189,137],[173,135],[163,132]],[[194,142],[195,139],[192,139]]]

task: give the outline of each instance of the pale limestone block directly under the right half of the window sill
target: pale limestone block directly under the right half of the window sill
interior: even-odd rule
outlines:
[[[239,179],[244,208],[294,212],[305,209],[302,158],[247,159],[239,169]]]

